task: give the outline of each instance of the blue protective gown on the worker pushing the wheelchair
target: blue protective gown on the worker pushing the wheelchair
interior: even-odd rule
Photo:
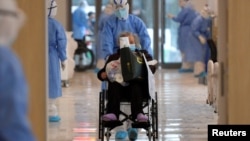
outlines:
[[[126,20],[119,20],[114,14],[111,15],[103,27],[101,33],[101,47],[104,57],[114,54],[119,49],[118,37],[122,32],[132,32],[140,39],[142,49],[147,50],[153,56],[151,40],[143,21],[135,15],[129,14]]]

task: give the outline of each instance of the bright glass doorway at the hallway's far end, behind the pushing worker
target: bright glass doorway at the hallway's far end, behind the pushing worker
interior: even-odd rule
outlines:
[[[80,0],[72,0],[73,12]],[[109,0],[86,0],[86,13],[93,11],[96,22]],[[166,17],[167,13],[177,14],[179,11],[176,0],[128,0],[130,13],[140,17],[147,26],[154,58],[162,68],[179,68],[181,55],[177,48],[178,24]],[[158,9],[158,10],[156,10]],[[164,11],[164,12],[162,12]]]

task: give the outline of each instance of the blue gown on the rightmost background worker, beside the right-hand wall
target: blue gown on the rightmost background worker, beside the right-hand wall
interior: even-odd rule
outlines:
[[[211,19],[203,18],[201,15],[197,16],[192,25],[192,32],[189,33],[187,38],[189,42],[189,50],[186,52],[186,58],[188,62],[204,62],[205,64],[208,61],[210,54],[208,44],[201,44],[199,36],[205,37],[205,39],[211,38]]]

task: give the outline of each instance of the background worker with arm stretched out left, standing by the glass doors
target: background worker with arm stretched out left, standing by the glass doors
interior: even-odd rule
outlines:
[[[181,7],[181,11],[177,16],[168,14],[168,18],[179,23],[177,44],[182,55],[182,66],[179,69],[179,72],[193,72],[193,64],[186,60],[187,57],[185,57],[185,55],[189,50],[187,46],[187,42],[189,42],[187,36],[191,32],[191,23],[198,13],[193,9],[189,0],[179,0],[179,6]]]

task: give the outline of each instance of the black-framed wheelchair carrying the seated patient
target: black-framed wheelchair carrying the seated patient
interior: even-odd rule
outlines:
[[[106,83],[106,82],[105,82]],[[127,120],[132,121],[132,128],[141,128],[146,131],[149,141],[156,141],[158,139],[158,104],[157,104],[157,92],[155,92],[155,98],[152,99],[149,94],[143,99],[143,111],[148,116],[148,122],[136,122],[132,119],[131,114],[126,114],[120,110],[120,118],[117,121],[103,121],[102,116],[107,112],[107,90],[102,90],[99,93],[99,139],[109,141],[111,137],[111,131],[117,126],[123,125]],[[130,101],[127,98],[123,98],[120,105],[130,105]]]

